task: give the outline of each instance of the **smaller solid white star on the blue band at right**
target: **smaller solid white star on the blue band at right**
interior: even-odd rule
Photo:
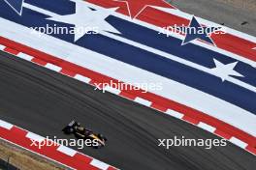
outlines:
[[[238,71],[234,70],[235,67],[237,66],[238,62],[224,65],[223,63],[217,61],[216,59],[213,59],[213,60],[214,60],[216,67],[211,69],[211,71],[213,71],[213,73],[216,76],[220,77],[222,79],[222,81],[225,81],[227,78],[229,78],[230,75],[244,77]]]

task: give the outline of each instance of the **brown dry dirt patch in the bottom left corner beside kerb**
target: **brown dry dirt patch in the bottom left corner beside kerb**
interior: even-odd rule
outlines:
[[[0,159],[8,161],[21,170],[64,170],[68,169],[49,161],[43,156],[30,153],[0,139]],[[1,168],[6,169],[6,168]]]

